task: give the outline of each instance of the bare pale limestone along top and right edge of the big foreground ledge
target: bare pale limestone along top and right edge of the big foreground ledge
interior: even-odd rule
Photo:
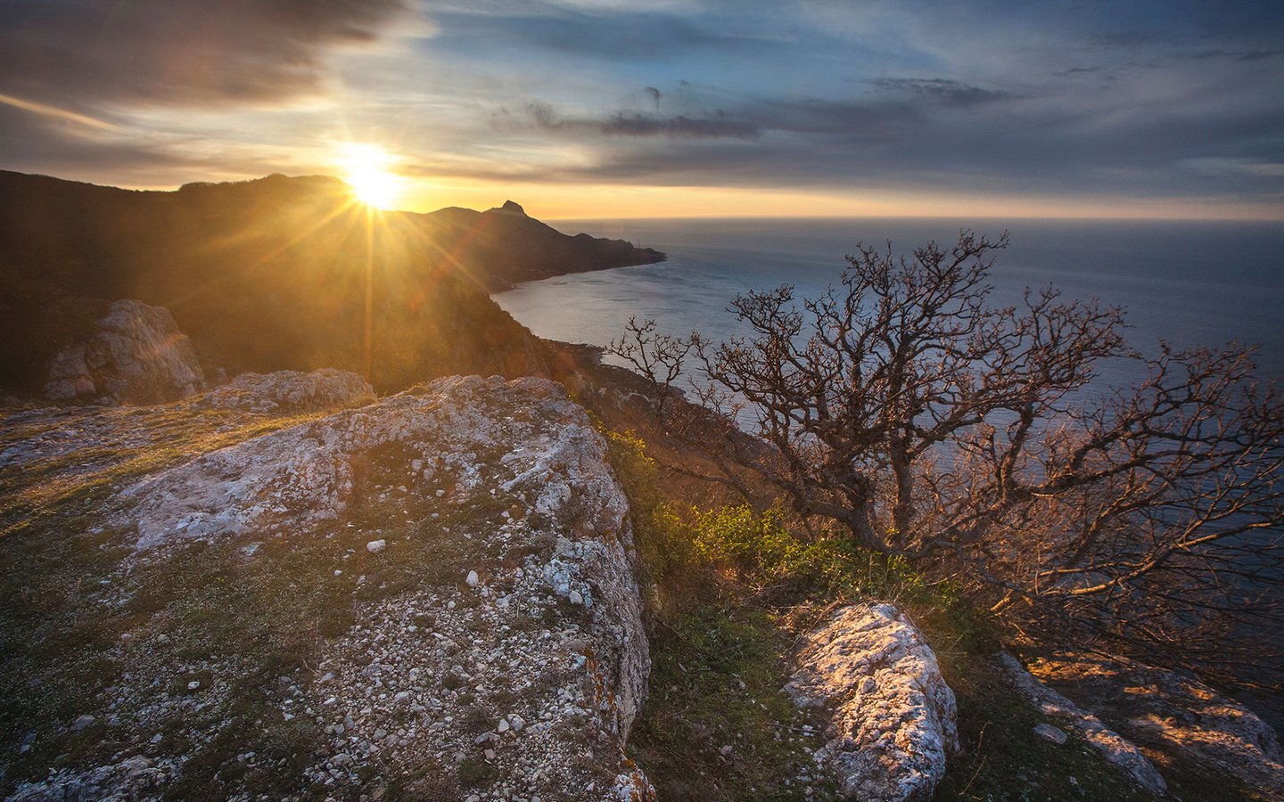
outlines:
[[[389,484],[369,484],[372,466]],[[181,561],[198,540],[309,538],[351,566],[334,571],[352,583],[351,627],[326,643],[320,679],[273,711],[326,744],[303,785],[357,798],[372,776],[413,775],[408,798],[456,798],[464,778],[488,798],[654,798],[624,757],[650,672],[628,503],[560,385],[438,380],[208,453],[116,500],[136,563]],[[358,566],[425,545],[462,565],[433,574],[434,557],[419,584],[356,601]],[[220,679],[196,695],[207,687]]]

